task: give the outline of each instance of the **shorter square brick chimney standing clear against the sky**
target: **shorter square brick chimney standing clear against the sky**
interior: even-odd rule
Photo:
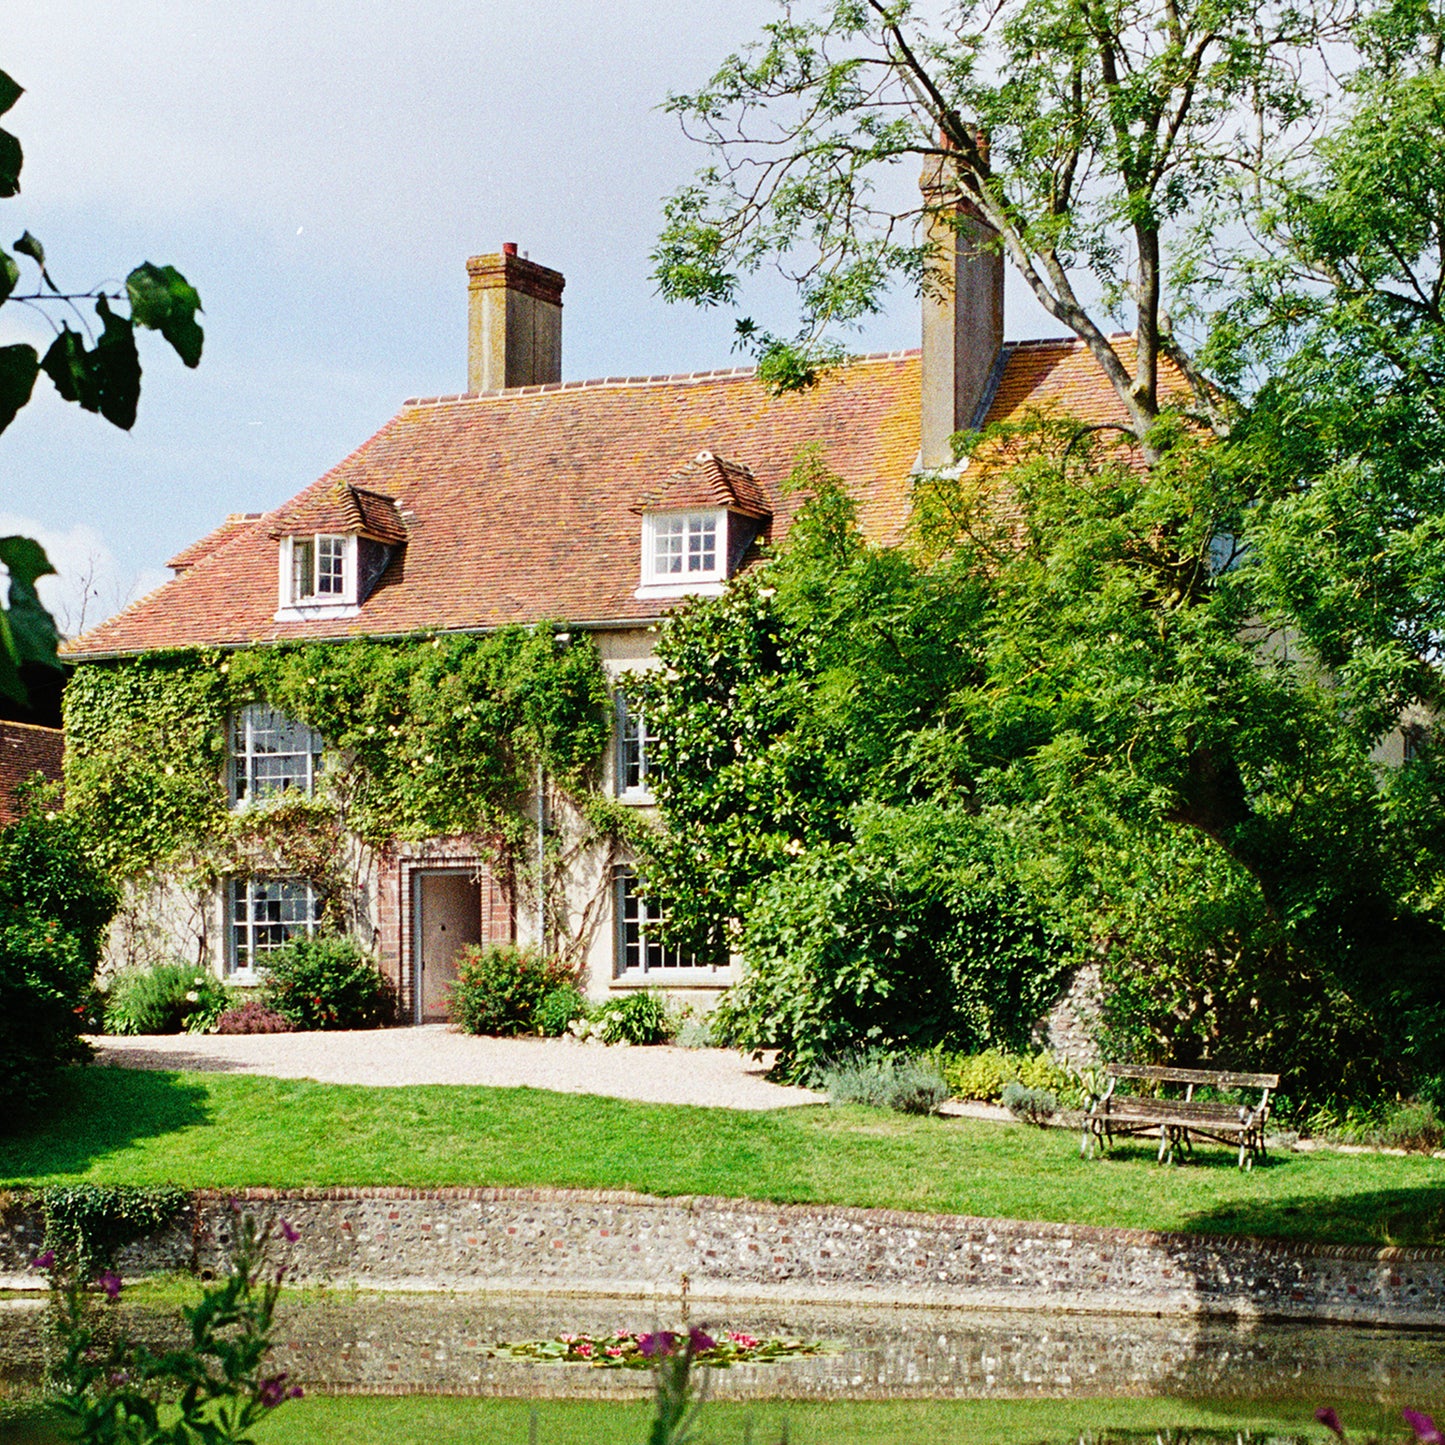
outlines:
[[[500,392],[562,380],[561,272],[507,241],[467,262],[467,390]]]

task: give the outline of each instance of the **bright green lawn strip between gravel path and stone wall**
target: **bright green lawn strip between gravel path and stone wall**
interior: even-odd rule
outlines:
[[[1081,1160],[1078,1139],[863,1108],[767,1114],[542,1090],[358,1088],[227,1074],[71,1071],[48,1123],[0,1140],[0,1186],[90,1181],[555,1185],[957,1214],[1445,1243],[1445,1160],[1225,1149]]]

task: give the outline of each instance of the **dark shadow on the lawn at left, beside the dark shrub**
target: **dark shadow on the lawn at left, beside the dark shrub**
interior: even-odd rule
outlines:
[[[23,1185],[46,1175],[79,1175],[142,1139],[208,1118],[205,1090],[178,1074],[66,1069],[43,1114],[0,1134],[0,1179]]]

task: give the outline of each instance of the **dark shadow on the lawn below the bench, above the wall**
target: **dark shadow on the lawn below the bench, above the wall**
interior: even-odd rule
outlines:
[[[1445,1173],[1439,1183],[1360,1194],[1237,1199],[1185,1224],[1199,1234],[1311,1238],[1321,1244],[1370,1240],[1386,1246],[1445,1247]]]

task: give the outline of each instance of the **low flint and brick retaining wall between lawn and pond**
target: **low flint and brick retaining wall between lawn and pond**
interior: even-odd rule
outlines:
[[[1433,1327],[1445,1314],[1445,1250],[551,1189],[247,1191],[237,1202],[301,1231],[279,1257],[302,1283],[660,1300],[686,1279],[695,1298],[718,1300]],[[228,1196],[198,1195],[121,1269],[214,1272],[234,1221]],[[12,1207],[0,1230],[12,1286],[26,1283],[39,1238],[35,1212]]]

